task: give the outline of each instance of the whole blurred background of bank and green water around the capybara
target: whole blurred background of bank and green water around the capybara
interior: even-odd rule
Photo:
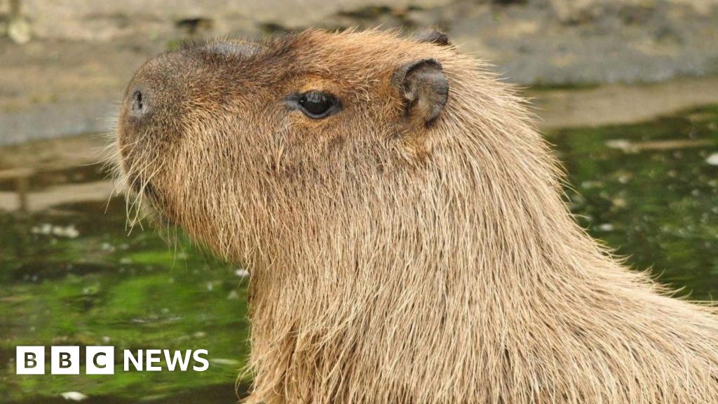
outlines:
[[[0,0],[0,403],[235,402],[247,272],[129,231],[103,134],[183,40],[379,26],[439,27],[521,84],[580,224],[681,295],[718,293],[718,0]],[[118,354],[112,377],[18,376],[17,345],[201,348],[210,369]]]

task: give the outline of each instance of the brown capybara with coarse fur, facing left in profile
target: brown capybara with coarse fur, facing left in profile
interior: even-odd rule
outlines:
[[[718,403],[714,309],[589,237],[521,98],[429,38],[201,42],[128,86],[129,200],[251,271],[246,402]]]

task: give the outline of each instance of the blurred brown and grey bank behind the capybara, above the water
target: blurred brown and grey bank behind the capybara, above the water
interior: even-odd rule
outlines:
[[[306,27],[440,27],[462,51],[495,63],[507,81],[554,89],[612,85],[582,94],[593,100],[589,106],[579,107],[588,98],[573,92],[551,93],[552,103],[576,104],[556,110],[540,91],[547,127],[647,119],[718,97],[712,79],[685,88],[620,86],[715,76],[718,0],[14,3],[13,10],[0,3],[0,144],[108,131],[134,70],[182,40]]]

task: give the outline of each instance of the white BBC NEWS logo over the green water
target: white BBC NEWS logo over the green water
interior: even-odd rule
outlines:
[[[130,349],[123,350],[123,370],[129,372],[169,372],[180,370],[186,372],[204,372],[209,369],[207,349],[186,349],[170,351],[169,349]],[[164,359],[164,367],[162,364]],[[45,375],[45,346],[17,346],[15,362],[18,375]],[[190,364],[192,366],[190,366]],[[50,374],[79,375],[80,346],[51,346]],[[85,346],[85,375],[114,375],[114,346]]]

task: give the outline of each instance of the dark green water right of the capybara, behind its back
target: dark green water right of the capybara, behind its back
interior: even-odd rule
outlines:
[[[690,298],[718,298],[718,106],[549,140],[592,236]]]

